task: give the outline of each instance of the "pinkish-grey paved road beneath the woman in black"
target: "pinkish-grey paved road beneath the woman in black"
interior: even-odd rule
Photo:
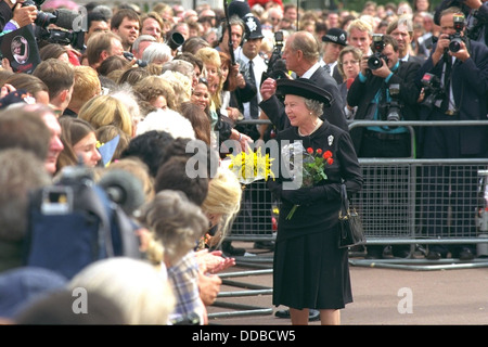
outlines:
[[[264,254],[270,256],[271,254]],[[486,325],[488,324],[488,259],[472,264],[442,265],[437,269],[428,266],[391,268],[381,262],[374,267],[361,265],[362,258],[352,258],[350,267],[354,303],[342,311],[344,325]],[[389,262],[388,262],[389,264]],[[457,267],[461,267],[458,268]],[[425,269],[427,268],[427,269]],[[227,281],[239,281],[262,286],[262,295],[220,297],[218,300],[256,306],[262,314],[219,317],[210,324],[224,325],[287,325],[288,319],[274,317],[283,307],[271,306],[271,271],[266,269],[235,267],[239,273],[261,273]],[[242,272],[244,271],[244,272]],[[234,295],[240,286],[222,286],[222,293]],[[229,314],[242,308],[210,307],[210,314]],[[230,313],[232,314],[232,313]],[[310,324],[317,325],[318,322]]]

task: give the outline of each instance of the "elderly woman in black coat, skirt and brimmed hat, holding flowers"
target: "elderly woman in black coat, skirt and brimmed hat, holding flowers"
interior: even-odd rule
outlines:
[[[311,153],[328,153],[331,159],[324,167],[326,178],[312,185],[296,187],[286,168],[268,181],[282,201],[273,304],[290,307],[292,324],[308,324],[309,309],[320,311],[322,324],[339,324],[339,309],[352,301],[348,252],[338,247],[341,184],[346,184],[349,194],[358,192],[363,183],[361,170],[349,133],[320,118],[331,95],[308,79],[277,83],[292,125],[277,137],[280,159],[286,144],[297,142]]]

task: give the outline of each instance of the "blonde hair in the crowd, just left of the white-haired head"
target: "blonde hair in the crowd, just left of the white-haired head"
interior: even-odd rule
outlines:
[[[112,95],[90,99],[79,111],[78,117],[89,121],[95,129],[114,125],[133,137],[133,121],[126,105]]]

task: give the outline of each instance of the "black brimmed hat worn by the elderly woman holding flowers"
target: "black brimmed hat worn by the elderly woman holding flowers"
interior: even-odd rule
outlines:
[[[323,102],[325,106],[330,107],[332,103],[332,95],[325,89],[317,87],[308,78],[287,79],[280,78],[277,81],[278,95],[298,95],[305,99],[317,100]]]

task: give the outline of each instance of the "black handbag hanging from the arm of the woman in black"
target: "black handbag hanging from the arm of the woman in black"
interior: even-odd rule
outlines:
[[[351,247],[365,244],[361,218],[354,207],[349,207],[346,184],[341,184],[339,237],[338,247]]]

